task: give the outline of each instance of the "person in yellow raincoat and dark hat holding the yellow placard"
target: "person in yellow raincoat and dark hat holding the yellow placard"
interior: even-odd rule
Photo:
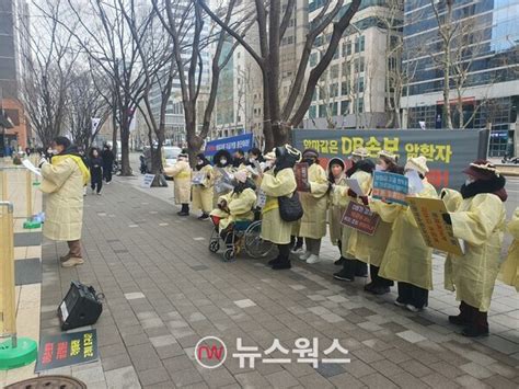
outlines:
[[[506,226],[504,202],[506,180],[485,160],[471,163],[463,173],[468,179],[461,186],[463,202],[453,213],[443,215],[452,224],[454,237],[464,241],[465,254],[452,255],[452,279],[460,314],[449,321],[463,325],[465,336],[488,334],[487,312],[494,284],[499,271],[500,249]]]

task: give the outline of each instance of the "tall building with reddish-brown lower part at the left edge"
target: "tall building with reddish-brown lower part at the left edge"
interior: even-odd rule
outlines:
[[[22,149],[32,139],[23,105],[19,99],[20,79],[24,71],[22,45],[28,45],[28,7],[23,0],[0,1],[0,153],[7,146]],[[10,128],[8,128],[10,127]]]

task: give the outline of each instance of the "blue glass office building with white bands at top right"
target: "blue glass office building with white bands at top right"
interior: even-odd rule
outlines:
[[[419,127],[420,122],[426,128],[445,128],[447,103],[454,128],[492,128],[491,157],[514,152],[519,104],[519,0],[457,0],[448,24],[446,2],[435,3],[438,16],[429,0],[405,2],[403,67],[416,71],[402,98],[404,123],[411,128]],[[449,31],[453,35],[448,67],[450,95],[445,102],[446,45],[440,33]]]

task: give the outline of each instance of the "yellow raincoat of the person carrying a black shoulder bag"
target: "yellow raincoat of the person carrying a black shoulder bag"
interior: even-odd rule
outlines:
[[[263,176],[262,190],[267,195],[263,208],[262,238],[276,244],[290,243],[292,224],[279,216],[278,197],[290,196],[296,191],[296,176],[292,169],[284,169],[274,175],[270,170]]]

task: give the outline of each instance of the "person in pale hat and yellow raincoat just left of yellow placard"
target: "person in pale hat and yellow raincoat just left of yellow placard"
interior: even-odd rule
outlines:
[[[410,192],[410,196],[438,197],[426,179],[429,169],[425,157],[410,158],[404,170],[407,176],[417,173],[423,183],[423,188],[418,193]],[[394,304],[417,312],[427,306],[429,290],[432,290],[432,249],[425,243],[410,207],[378,201],[370,206],[382,220],[393,222],[379,274],[399,282],[399,297]]]

